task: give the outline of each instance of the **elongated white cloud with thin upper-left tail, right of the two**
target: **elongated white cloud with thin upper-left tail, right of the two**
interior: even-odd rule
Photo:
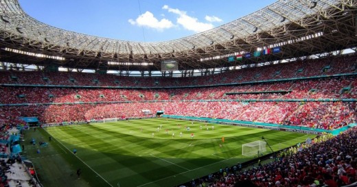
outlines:
[[[185,29],[194,32],[204,32],[212,29],[214,25],[211,23],[199,22],[197,18],[192,16],[187,16],[185,11],[179,10],[177,8],[170,8],[168,5],[163,5],[163,10],[168,10],[168,12],[179,15],[177,18],[177,23],[182,25]]]

